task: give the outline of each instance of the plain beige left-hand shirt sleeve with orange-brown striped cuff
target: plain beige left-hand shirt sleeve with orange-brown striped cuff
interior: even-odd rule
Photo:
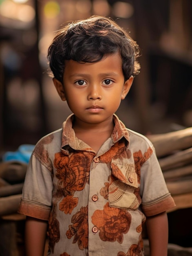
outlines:
[[[29,161],[18,212],[48,220],[52,204],[52,174],[33,154]]]

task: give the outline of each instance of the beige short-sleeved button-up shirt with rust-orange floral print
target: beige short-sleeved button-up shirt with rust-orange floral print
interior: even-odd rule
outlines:
[[[175,205],[153,145],[114,115],[96,154],[75,137],[72,121],[35,146],[19,212],[49,220],[48,255],[143,256],[146,216]]]

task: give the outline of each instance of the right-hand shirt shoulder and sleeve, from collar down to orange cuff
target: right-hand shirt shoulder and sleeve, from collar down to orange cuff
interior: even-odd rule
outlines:
[[[140,175],[143,213],[146,216],[154,216],[171,209],[175,203],[166,186],[153,144],[145,136],[130,130],[129,132],[130,147],[134,148],[132,152],[135,155],[136,171]]]

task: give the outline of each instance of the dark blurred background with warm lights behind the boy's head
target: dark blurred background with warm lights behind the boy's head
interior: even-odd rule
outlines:
[[[0,0],[0,150],[36,144],[71,113],[47,74],[67,21],[110,16],[141,48],[141,73],[117,112],[143,134],[192,126],[192,1]]]

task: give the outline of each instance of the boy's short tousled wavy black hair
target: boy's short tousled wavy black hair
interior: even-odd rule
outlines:
[[[53,76],[63,82],[65,60],[97,62],[105,54],[117,52],[122,58],[125,81],[138,74],[137,43],[111,18],[91,16],[66,25],[56,34],[48,49],[48,60]]]

